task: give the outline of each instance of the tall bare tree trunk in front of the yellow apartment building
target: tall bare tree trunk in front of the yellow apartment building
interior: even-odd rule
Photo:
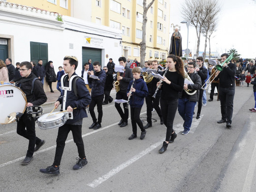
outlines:
[[[145,66],[145,57],[146,57],[146,25],[147,25],[147,12],[155,0],[152,0],[147,5],[147,0],[143,0],[143,22],[142,22],[142,41],[140,45],[140,66],[141,68]]]

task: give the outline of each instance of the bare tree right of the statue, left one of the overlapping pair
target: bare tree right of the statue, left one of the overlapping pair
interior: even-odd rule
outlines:
[[[201,32],[205,31],[203,26],[207,18],[211,17],[213,11],[217,9],[216,7],[218,7],[218,0],[186,0],[182,7],[182,11],[186,13],[183,18],[187,21],[192,17],[195,10],[191,23],[195,27],[197,35],[196,57],[199,53]]]

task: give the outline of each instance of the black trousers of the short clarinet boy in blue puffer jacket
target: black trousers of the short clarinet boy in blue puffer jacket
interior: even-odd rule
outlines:
[[[141,131],[145,131],[143,128],[143,123],[140,120],[140,111],[141,107],[130,107],[130,120],[131,120],[131,126],[132,126],[132,133],[134,135],[137,135],[137,124]]]

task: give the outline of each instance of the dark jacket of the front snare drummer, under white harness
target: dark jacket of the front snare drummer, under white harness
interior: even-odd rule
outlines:
[[[72,74],[76,75],[76,73],[74,72]],[[69,81],[67,81],[68,78],[65,79],[64,81],[64,87],[68,87],[69,86]],[[76,87],[77,87],[77,97],[75,96],[75,92],[73,90],[73,87],[71,87],[71,91],[67,91],[66,94],[66,103],[65,103],[65,109],[63,109],[63,95],[64,92],[62,93],[62,96],[60,96],[58,98],[58,101],[60,101],[60,103],[62,104],[62,109],[66,110],[66,108],[68,106],[71,106],[72,108],[77,108],[73,110],[73,119],[68,119],[66,121],[66,124],[73,124],[75,122],[77,122],[80,119],[83,119],[87,116],[86,113],[86,107],[90,104],[92,98],[89,94],[88,89],[85,86],[85,82],[83,79],[78,78],[76,80]]]

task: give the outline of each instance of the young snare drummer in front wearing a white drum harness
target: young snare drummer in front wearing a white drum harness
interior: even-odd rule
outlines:
[[[86,107],[91,102],[91,96],[88,89],[85,86],[85,82],[82,78],[77,78],[75,86],[77,87],[77,94],[74,91],[73,83],[69,82],[71,76],[76,75],[75,69],[78,65],[78,60],[74,56],[64,57],[63,69],[67,73],[68,78],[62,77],[62,87],[68,87],[71,83],[71,91],[64,91],[62,96],[56,101],[54,106],[58,108],[60,104],[63,110],[68,112],[73,111],[73,119],[69,119],[66,123],[59,128],[57,136],[57,147],[55,152],[55,158],[53,165],[47,167],[46,169],[40,169],[41,173],[46,174],[60,174],[60,164],[62,160],[62,155],[65,147],[65,141],[70,130],[73,134],[74,142],[76,143],[79,158],[76,158],[76,164],[73,166],[74,170],[82,168],[87,164],[85,157],[84,142],[82,138],[82,123],[83,118],[88,117],[86,113]],[[79,88],[79,89],[78,89]],[[77,95],[77,96],[76,96]],[[65,102],[64,102],[65,99]],[[75,108],[73,110],[73,108]]]

